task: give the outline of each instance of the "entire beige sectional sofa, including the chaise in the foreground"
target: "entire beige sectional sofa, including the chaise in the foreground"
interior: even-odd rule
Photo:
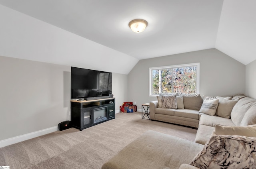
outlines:
[[[215,114],[200,113],[204,112],[204,102],[216,98],[219,104]],[[242,94],[232,98],[192,94],[183,96],[183,102],[184,108],[177,105],[176,109],[150,102],[150,119],[198,127],[194,142],[148,131],[102,169],[256,168],[255,99]]]

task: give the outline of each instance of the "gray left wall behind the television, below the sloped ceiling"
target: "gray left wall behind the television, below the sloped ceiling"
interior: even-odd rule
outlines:
[[[128,98],[127,76],[112,76],[117,111]],[[0,56],[0,79],[0,140],[70,120],[69,66]]]

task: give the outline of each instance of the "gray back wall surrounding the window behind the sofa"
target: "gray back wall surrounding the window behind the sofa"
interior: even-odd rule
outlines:
[[[140,60],[128,74],[128,101],[141,104],[156,100],[149,96],[149,68],[200,63],[200,94],[224,96],[245,93],[245,65],[217,49]]]

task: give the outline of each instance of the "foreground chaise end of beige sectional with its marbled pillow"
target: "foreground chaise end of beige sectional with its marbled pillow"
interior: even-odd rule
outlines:
[[[149,130],[104,163],[102,169],[255,169],[256,125],[236,127],[248,137],[228,136],[221,128],[205,145]],[[232,132],[234,128],[224,130]]]

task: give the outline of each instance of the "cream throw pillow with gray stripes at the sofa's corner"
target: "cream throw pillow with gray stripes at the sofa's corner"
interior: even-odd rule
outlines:
[[[219,103],[218,99],[213,99],[213,100],[206,99],[204,100],[199,112],[214,116],[216,109],[218,107],[218,103]]]

